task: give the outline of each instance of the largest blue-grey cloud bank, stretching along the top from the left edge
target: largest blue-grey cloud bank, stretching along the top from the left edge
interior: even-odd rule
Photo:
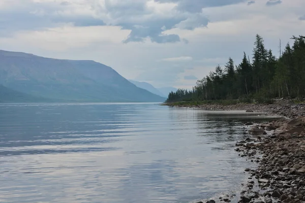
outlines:
[[[177,34],[164,33],[178,27],[193,30],[206,27],[209,19],[203,8],[222,7],[248,0],[138,0],[138,1],[41,1],[12,0],[9,9],[0,7],[0,35],[16,31],[44,30],[61,24],[74,26],[120,26],[130,30],[123,41],[153,43],[189,43]],[[9,1],[8,1],[9,2]],[[18,6],[16,6],[18,5]],[[3,20],[4,19],[4,20]]]

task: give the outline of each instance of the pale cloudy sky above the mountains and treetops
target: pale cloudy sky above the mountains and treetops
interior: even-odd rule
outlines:
[[[111,66],[156,87],[191,88],[256,34],[279,56],[305,35],[304,0],[0,0],[0,49]]]

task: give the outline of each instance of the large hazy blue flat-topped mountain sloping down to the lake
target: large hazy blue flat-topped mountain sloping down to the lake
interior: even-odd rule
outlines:
[[[34,97],[71,102],[155,102],[111,67],[91,60],[62,60],[0,50],[0,84]]]

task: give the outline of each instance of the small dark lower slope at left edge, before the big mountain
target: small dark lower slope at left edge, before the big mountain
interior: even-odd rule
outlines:
[[[46,98],[36,97],[18,92],[0,85],[0,103],[34,103],[49,101]]]

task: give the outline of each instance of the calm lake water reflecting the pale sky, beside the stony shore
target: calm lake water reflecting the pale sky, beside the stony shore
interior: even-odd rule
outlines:
[[[238,191],[243,122],[156,104],[0,105],[0,202],[191,202]]]

